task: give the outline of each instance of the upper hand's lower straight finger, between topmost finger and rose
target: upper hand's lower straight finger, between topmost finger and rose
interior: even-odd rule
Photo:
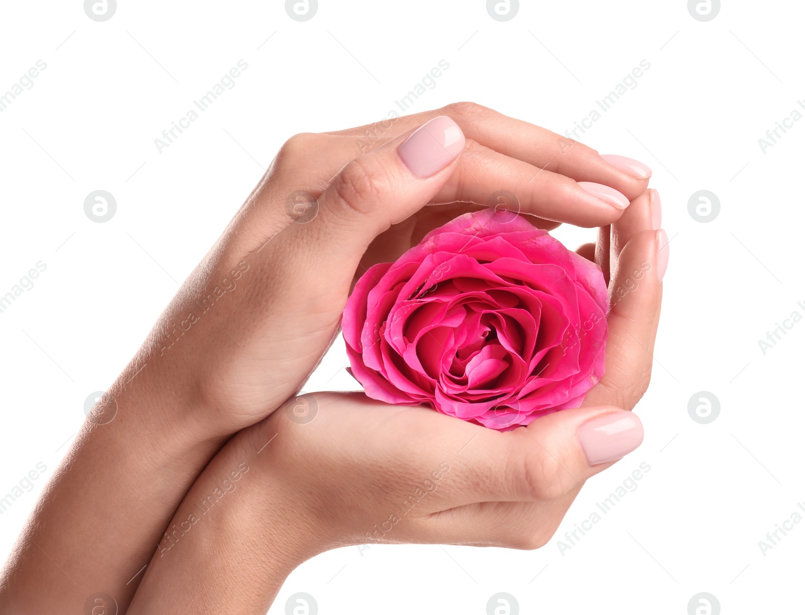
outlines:
[[[501,187],[514,195],[490,201]],[[576,182],[565,175],[510,158],[468,141],[455,173],[436,193],[435,202],[470,201],[530,213],[577,226],[601,226],[621,217],[629,200],[603,184]]]

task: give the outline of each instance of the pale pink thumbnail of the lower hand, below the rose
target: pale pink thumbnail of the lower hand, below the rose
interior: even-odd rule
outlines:
[[[584,423],[578,434],[588,464],[604,464],[640,446],[643,424],[629,411],[613,412]]]

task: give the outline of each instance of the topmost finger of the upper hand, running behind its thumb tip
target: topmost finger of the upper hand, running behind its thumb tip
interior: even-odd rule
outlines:
[[[555,134],[472,102],[453,103],[442,109],[333,134],[359,135],[370,131],[377,135],[377,142],[385,142],[392,135],[396,136],[441,114],[452,118],[467,138],[485,147],[534,167],[567,175],[576,181],[604,184],[630,200],[646,189],[651,175],[650,169],[636,160],[599,155],[592,148],[577,142],[577,134]]]

